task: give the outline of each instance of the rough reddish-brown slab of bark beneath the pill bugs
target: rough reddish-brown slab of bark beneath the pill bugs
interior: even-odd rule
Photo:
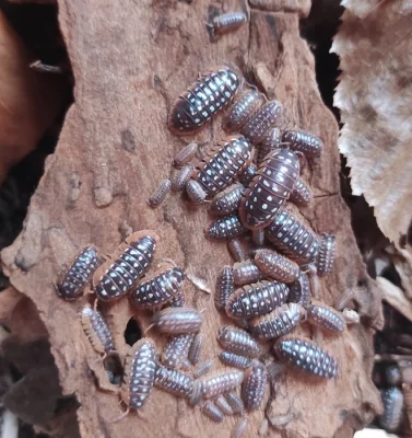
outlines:
[[[94,243],[103,254],[110,253],[130,229],[156,230],[161,235],[157,262],[174,258],[214,285],[229,256],[224,244],[203,237],[210,220],[207,209],[196,209],[174,196],[152,210],[146,199],[160,180],[169,175],[172,159],[184,145],[195,140],[207,150],[223,137],[220,117],[196,138],[176,138],[166,128],[174,99],[198,72],[222,62],[235,66],[269,99],[283,102],[289,125],[309,129],[325,141],[322,158],[309,161],[303,171],[315,198],[301,209],[302,218],[317,232],[338,237],[336,268],[321,281],[321,297],[332,304],[346,288],[367,284],[356,299],[363,324],[323,341],[339,361],[339,377],[319,383],[287,372],[283,390],[272,402],[272,414],[285,413],[287,400],[293,400],[296,415],[284,436],[330,438],[350,436],[379,410],[370,370],[372,335],[379,324],[380,304],[340,196],[338,126],[321,102],[313,56],[299,37],[298,16],[307,12],[307,2],[302,2],[302,9],[299,3],[292,8],[280,2],[287,12],[279,11],[276,1],[272,3],[264,10],[251,9],[248,25],[211,42],[204,21],[213,8],[222,10],[222,4],[210,5],[205,0],[59,1],[75,103],[33,196],[24,230],[2,252],[2,260],[12,285],[34,301],[49,332],[63,392],[75,393],[81,404],[78,417],[83,437],[227,437],[235,424],[234,418],[213,424],[198,408],[158,390],[139,415],[132,413],[114,424],[120,413],[118,396],[98,388],[98,382],[109,383],[76,314],[86,298],[63,302],[52,288],[62,265],[81,246]],[[243,8],[242,1],[231,0],[223,10]],[[216,357],[215,335],[226,320],[215,311],[211,296],[189,283],[185,292],[193,307],[205,309],[203,358]],[[102,306],[102,311],[123,357],[128,350],[123,332],[133,311],[127,299]],[[137,318],[143,328],[148,326],[148,313]],[[310,336],[306,327],[299,332]],[[151,336],[161,348],[165,339],[155,332]],[[263,416],[263,410],[249,416],[247,437],[257,436]]]

